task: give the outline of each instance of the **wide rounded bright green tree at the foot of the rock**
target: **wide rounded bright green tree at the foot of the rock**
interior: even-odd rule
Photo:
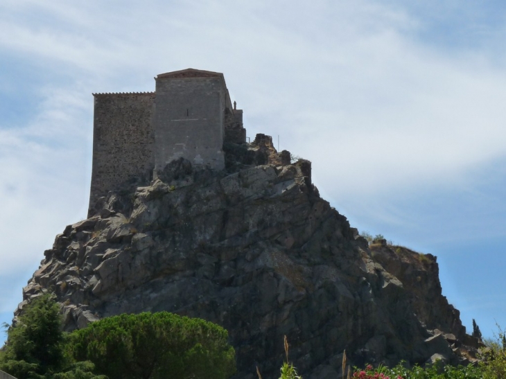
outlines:
[[[107,317],[71,334],[73,356],[110,379],[225,379],[235,373],[227,330],[169,312]]]

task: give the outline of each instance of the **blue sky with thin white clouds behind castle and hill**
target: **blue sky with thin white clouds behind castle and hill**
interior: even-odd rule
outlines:
[[[469,333],[506,327],[504,1],[2,0],[0,30],[0,322],[86,218],[91,94],[191,67],[352,227],[437,256]]]

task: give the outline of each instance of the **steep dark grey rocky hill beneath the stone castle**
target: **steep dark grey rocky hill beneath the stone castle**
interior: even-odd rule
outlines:
[[[435,256],[367,243],[268,136],[227,146],[227,170],[173,161],[69,225],[24,288],[54,292],[66,330],[167,310],[225,327],[236,378],[277,378],[283,335],[304,378],[361,365],[472,361],[478,340],[442,296]],[[288,153],[288,161],[286,156]]]

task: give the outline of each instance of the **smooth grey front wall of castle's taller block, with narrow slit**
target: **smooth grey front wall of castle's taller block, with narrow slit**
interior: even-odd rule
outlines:
[[[184,157],[194,166],[225,168],[223,77],[156,79],[155,170]]]

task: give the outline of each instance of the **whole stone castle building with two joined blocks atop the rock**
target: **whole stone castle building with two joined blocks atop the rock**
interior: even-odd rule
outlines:
[[[232,107],[223,73],[186,69],[159,74],[156,91],[94,94],[93,168],[88,216],[109,191],[183,157],[223,170],[223,142],[245,143],[243,111]]]

